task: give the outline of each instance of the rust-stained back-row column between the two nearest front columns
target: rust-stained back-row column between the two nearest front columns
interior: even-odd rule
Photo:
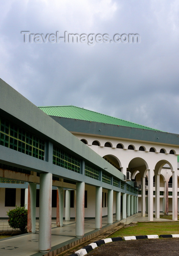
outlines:
[[[57,226],[63,226],[63,188],[57,187]]]

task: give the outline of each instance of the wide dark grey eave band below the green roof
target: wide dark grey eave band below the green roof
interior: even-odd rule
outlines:
[[[71,132],[87,133],[98,136],[142,140],[146,142],[179,145],[179,135],[169,132],[152,131],[121,125],[98,123],[93,121],[77,120],[66,117],[51,116],[55,121]]]

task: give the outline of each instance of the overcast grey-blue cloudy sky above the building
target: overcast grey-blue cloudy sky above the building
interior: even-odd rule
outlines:
[[[30,43],[28,35],[25,43],[21,31],[140,42]],[[0,60],[0,78],[37,106],[74,105],[179,133],[178,0],[1,1]]]

